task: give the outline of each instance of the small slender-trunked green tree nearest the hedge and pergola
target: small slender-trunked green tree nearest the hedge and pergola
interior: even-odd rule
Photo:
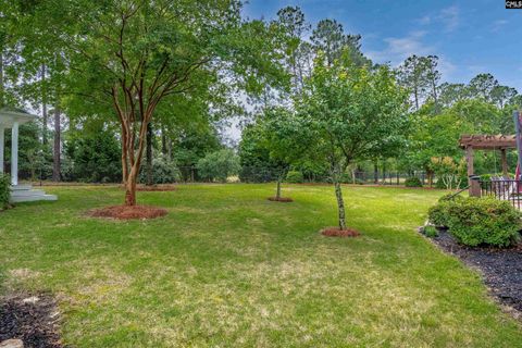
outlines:
[[[353,162],[397,146],[408,129],[408,96],[386,65],[357,66],[349,54],[328,65],[319,54],[296,104],[295,133],[308,153],[327,162],[335,187],[338,226],[346,229],[341,175]]]

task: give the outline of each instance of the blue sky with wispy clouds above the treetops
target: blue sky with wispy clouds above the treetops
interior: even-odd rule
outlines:
[[[362,51],[377,63],[436,54],[443,80],[488,72],[522,92],[522,10],[506,10],[504,0],[250,0],[244,14],[270,20],[286,5],[299,5],[312,24],[335,18],[361,34]]]

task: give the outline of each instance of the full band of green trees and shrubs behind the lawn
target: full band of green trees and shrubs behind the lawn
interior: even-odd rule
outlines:
[[[422,170],[455,185],[459,135],[510,134],[522,103],[490,74],[442,82],[436,55],[376,64],[360,35],[332,18],[312,25],[298,7],[250,20],[238,0],[0,3],[0,105],[41,115],[22,130],[26,174],[121,182],[126,204],[139,181],[220,161],[278,183],[289,170],[327,177],[339,207],[355,169]],[[239,159],[223,151],[232,119]]]

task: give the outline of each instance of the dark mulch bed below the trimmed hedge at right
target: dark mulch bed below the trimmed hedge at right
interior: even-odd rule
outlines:
[[[522,245],[507,249],[471,248],[459,245],[446,229],[439,229],[438,236],[431,239],[444,251],[481,270],[492,294],[522,318]]]

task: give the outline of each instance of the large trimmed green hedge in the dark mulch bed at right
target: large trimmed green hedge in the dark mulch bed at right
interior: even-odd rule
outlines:
[[[463,245],[509,247],[520,238],[521,213],[511,203],[493,198],[445,197],[428,212],[430,221],[445,226]]]

